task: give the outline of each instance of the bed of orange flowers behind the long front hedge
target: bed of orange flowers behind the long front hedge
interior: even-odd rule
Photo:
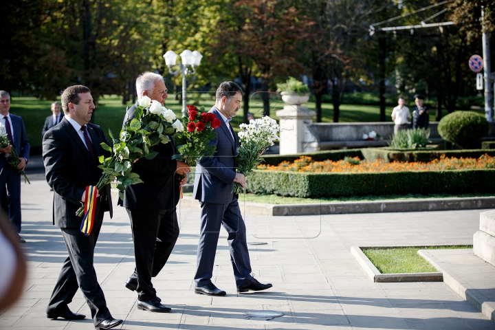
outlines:
[[[385,162],[382,159],[373,161],[360,160],[358,157],[342,159],[337,162],[325,160],[313,162],[311,157],[301,156],[293,163],[281,162],[278,166],[260,165],[263,170],[291,170],[295,172],[405,172],[417,170],[470,170],[495,168],[495,157],[482,155],[476,158],[434,159],[432,162]]]

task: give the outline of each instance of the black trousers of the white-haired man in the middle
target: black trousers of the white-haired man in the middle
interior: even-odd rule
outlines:
[[[170,210],[137,210],[127,208],[134,241],[136,267],[131,278],[137,278],[137,295],[141,301],[156,297],[151,283],[164,267],[179,237],[175,208]]]

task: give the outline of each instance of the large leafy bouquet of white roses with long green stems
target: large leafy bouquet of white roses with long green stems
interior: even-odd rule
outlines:
[[[142,157],[153,159],[158,154],[153,151],[153,146],[159,143],[167,144],[170,142],[168,136],[184,130],[181,121],[176,120],[175,113],[159,102],[143,96],[139,104],[134,111],[134,118],[126,122],[125,128],[120,131],[120,139],[113,137],[109,130],[113,146],[104,142],[100,144],[111,155],[106,158],[100,156],[101,165],[98,167],[103,173],[96,188],[100,190],[117,179],[120,198],[124,198],[125,186],[142,182],[139,175],[132,172],[133,163]],[[76,212],[78,216],[83,214],[84,204]]]

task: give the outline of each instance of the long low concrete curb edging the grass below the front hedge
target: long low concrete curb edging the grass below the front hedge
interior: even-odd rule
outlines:
[[[181,199],[180,206],[199,208],[199,202],[190,196]],[[351,214],[377,212],[421,212],[440,210],[472,210],[495,208],[495,197],[467,197],[444,199],[410,199],[405,201],[352,201],[315,204],[268,204],[239,200],[245,214],[287,216],[319,214]]]

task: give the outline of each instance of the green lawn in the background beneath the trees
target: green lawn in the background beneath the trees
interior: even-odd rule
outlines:
[[[195,104],[197,106],[203,105],[205,110],[208,111],[214,104],[214,100],[211,95],[203,94],[202,96],[194,96],[189,99],[188,104]],[[28,131],[28,138],[32,146],[32,153],[41,153],[41,129],[45,123],[45,118],[51,114],[50,104],[52,101],[43,101],[37,98],[31,97],[12,97],[12,106],[10,112],[14,115],[20,115]],[[314,102],[308,102],[305,104],[309,109],[315,109]],[[118,134],[122,127],[122,120],[125,115],[126,107],[131,107],[132,103],[129,102],[122,105],[121,98],[119,96],[104,96],[98,100],[96,106],[96,112],[94,113],[95,123],[100,125],[105,133],[108,129],[111,129],[113,133]],[[172,109],[177,117],[181,116],[181,104],[178,100],[173,100],[172,97],[168,98],[166,107]],[[284,104],[281,100],[277,100],[275,96],[270,104],[270,115],[272,118],[278,120],[275,113],[277,110],[282,109]],[[391,121],[391,113],[393,107],[386,108],[386,120]],[[331,103],[322,104],[322,121],[333,121],[333,106]],[[250,101],[250,112],[254,113],[256,118],[263,116],[263,103],[261,100],[253,98]],[[445,112],[446,114],[446,112]],[[444,114],[444,115],[445,115]],[[241,109],[234,120],[232,120],[232,126],[234,131],[239,131],[239,124],[241,124],[243,118],[243,110]],[[369,105],[355,105],[355,104],[342,104],[340,106],[340,122],[378,122],[380,120],[380,107]],[[434,120],[434,113],[430,114],[430,120]]]

